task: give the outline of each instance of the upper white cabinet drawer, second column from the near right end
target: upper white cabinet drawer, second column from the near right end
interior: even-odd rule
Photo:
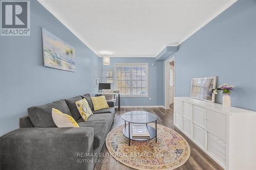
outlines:
[[[205,128],[205,109],[193,106],[193,122],[202,128]]]

